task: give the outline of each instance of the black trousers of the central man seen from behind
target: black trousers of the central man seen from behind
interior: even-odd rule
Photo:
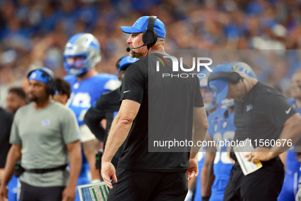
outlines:
[[[118,182],[108,194],[108,201],[184,200],[188,191],[186,172],[116,170]]]

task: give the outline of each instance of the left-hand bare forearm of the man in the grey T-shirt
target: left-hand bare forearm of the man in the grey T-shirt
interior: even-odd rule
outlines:
[[[12,178],[15,170],[15,164],[18,160],[21,159],[21,153],[20,151],[15,147],[15,145],[12,145],[9,149],[6,163],[5,163],[5,173],[4,178],[2,181],[2,185],[7,185],[10,179]]]

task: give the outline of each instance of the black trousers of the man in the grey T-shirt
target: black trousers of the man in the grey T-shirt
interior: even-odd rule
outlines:
[[[62,201],[65,186],[36,187],[21,182],[20,201]]]

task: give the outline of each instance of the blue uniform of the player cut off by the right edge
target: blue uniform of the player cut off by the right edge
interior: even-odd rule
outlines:
[[[296,107],[294,98],[288,99],[287,102],[301,114],[301,108]],[[285,177],[281,192],[278,196],[279,201],[295,200],[295,195],[298,191],[300,162],[297,160],[294,146],[287,150],[285,164]]]

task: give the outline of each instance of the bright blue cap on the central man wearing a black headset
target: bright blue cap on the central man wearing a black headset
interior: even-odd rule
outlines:
[[[145,32],[145,30],[147,29],[148,18],[149,18],[149,16],[140,17],[139,19],[137,19],[135,21],[133,26],[131,26],[131,27],[123,27],[122,26],[120,28],[124,33],[127,33],[127,34]],[[161,22],[161,20],[159,20],[157,18],[155,21],[154,30],[156,31],[157,36],[160,38],[165,38],[166,31],[165,31],[164,27],[165,26],[164,26],[163,22]]]

